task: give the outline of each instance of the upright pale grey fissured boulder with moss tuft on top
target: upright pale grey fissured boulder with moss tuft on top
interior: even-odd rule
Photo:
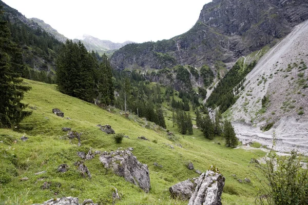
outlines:
[[[189,199],[188,205],[221,205],[221,194],[225,178],[222,174],[206,171],[197,178],[197,186]]]

